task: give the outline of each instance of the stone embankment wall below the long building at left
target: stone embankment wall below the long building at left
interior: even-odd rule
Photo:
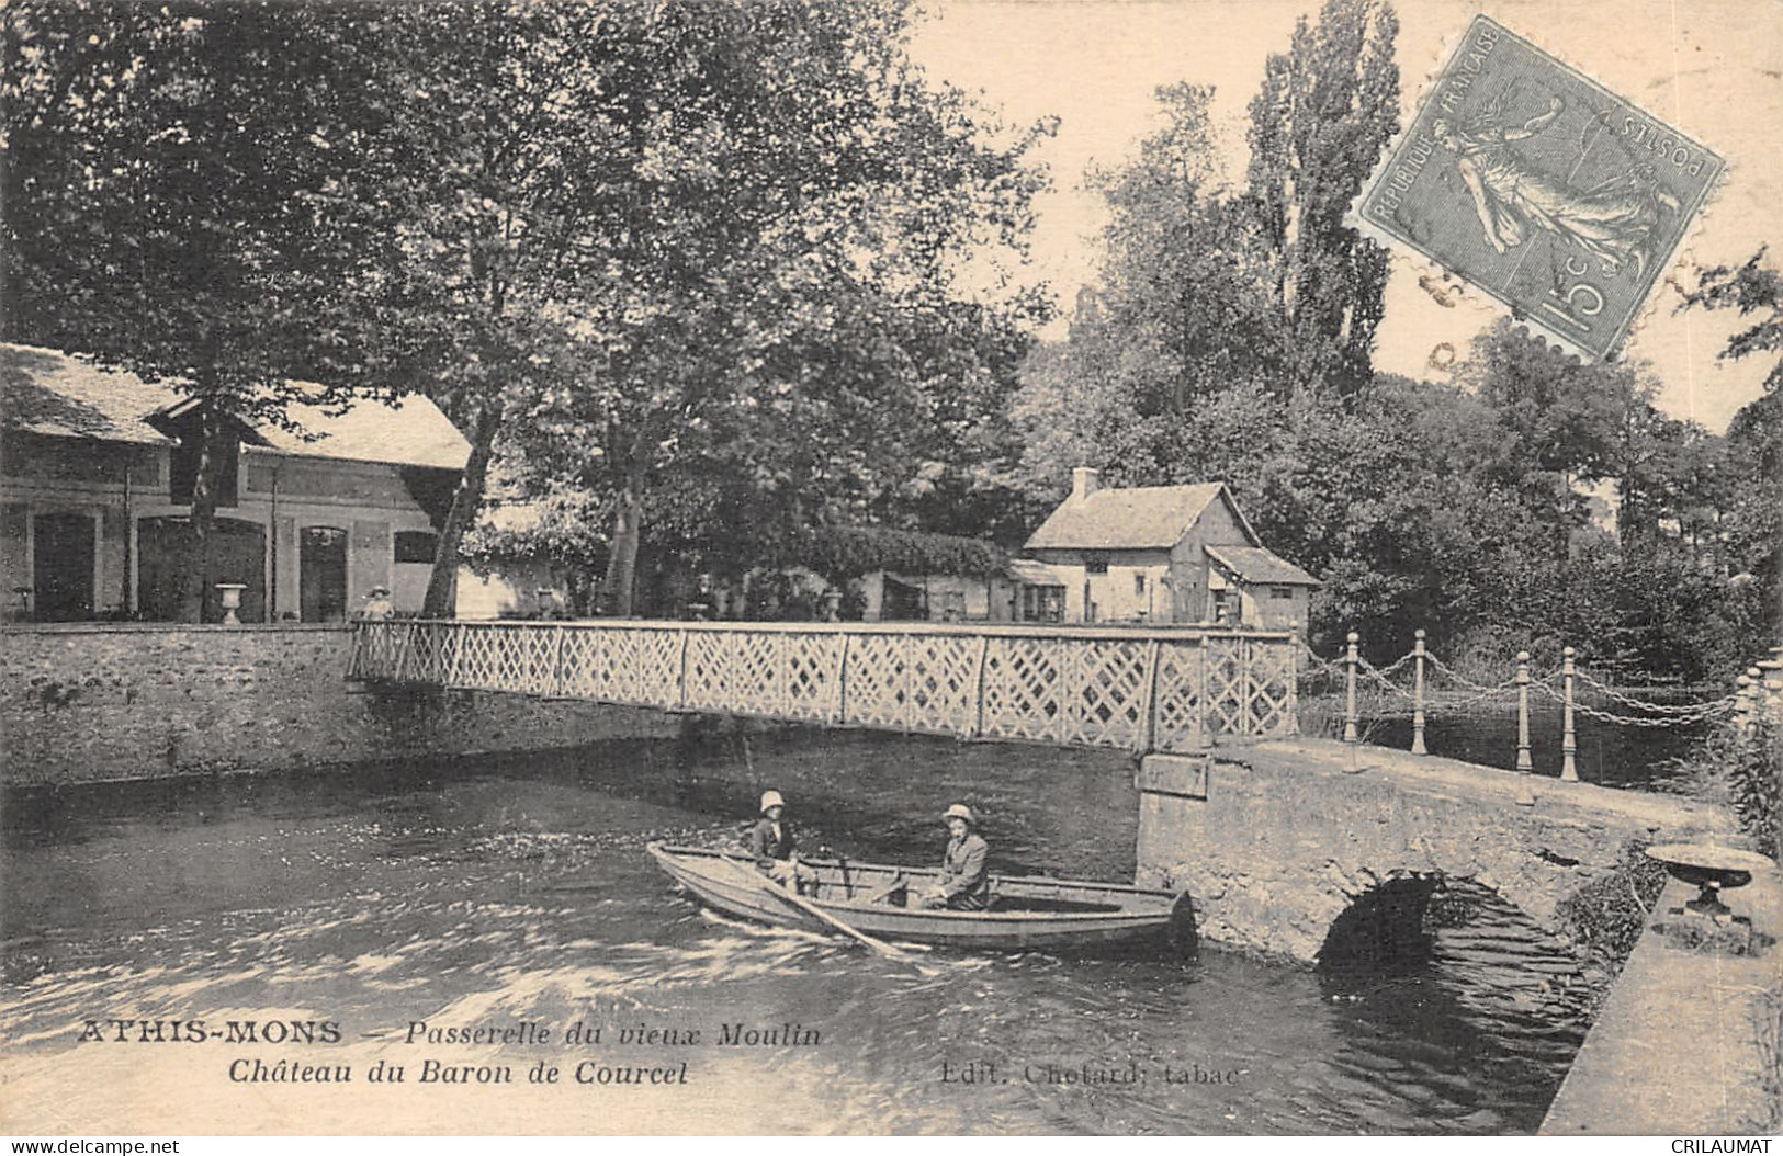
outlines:
[[[330,625],[0,631],[0,780],[282,771],[670,736],[658,711],[346,680]]]

